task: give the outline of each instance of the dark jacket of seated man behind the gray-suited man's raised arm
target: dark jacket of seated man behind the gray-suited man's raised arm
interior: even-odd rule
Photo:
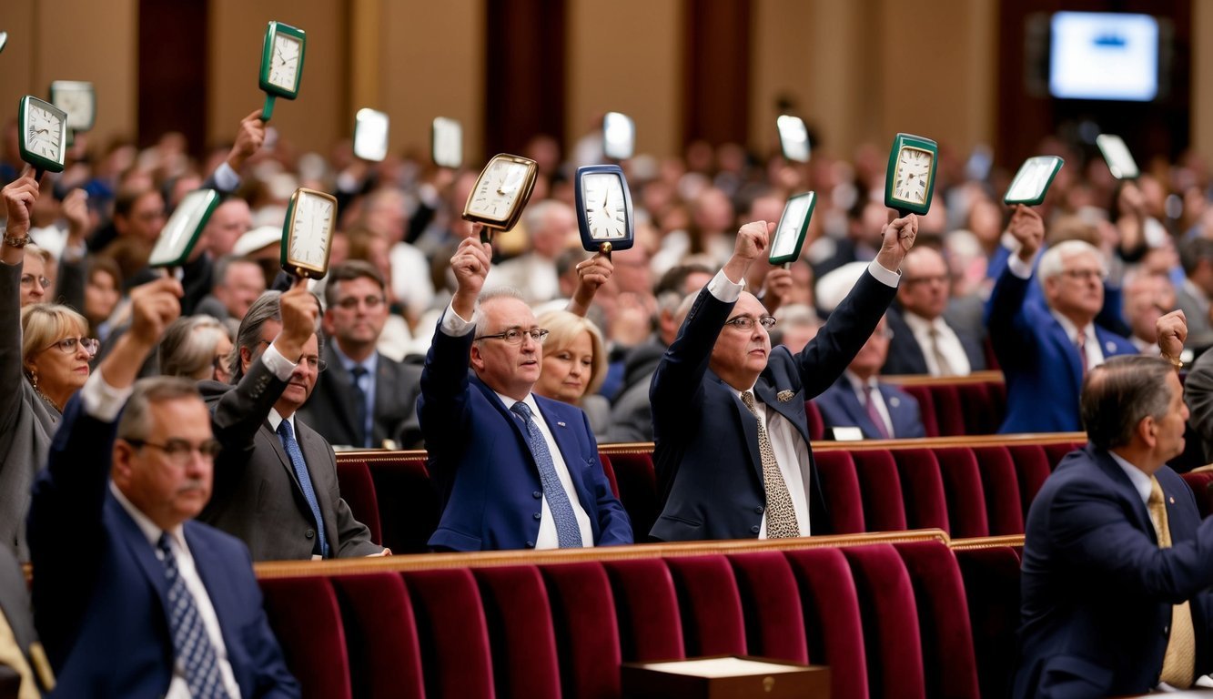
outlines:
[[[357,434],[353,376],[337,359],[330,342],[324,348],[329,368],[320,373],[312,397],[300,409],[308,425],[314,426],[330,444],[361,448]],[[421,365],[395,362],[382,354],[375,370],[375,411],[371,425],[371,447],[394,441],[400,449],[415,447],[421,441],[417,425],[417,396],[421,393]]]

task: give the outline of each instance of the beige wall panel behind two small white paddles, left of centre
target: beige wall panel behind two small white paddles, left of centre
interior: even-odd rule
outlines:
[[[378,104],[392,120],[392,150],[429,153],[434,116],[463,124],[463,161],[479,169],[484,142],[483,0],[382,0]]]

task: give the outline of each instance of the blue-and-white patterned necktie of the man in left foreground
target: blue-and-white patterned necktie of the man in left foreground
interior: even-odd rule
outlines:
[[[215,646],[198,614],[194,596],[177,570],[177,558],[169,547],[169,535],[160,534],[156,547],[164,553],[164,575],[169,580],[169,630],[177,663],[186,675],[189,694],[194,699],[220,699],[228,695],[220,678]]]

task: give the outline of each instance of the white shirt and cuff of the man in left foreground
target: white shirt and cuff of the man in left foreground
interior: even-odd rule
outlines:
[[[84,403],[84,410],[90,416],[112,422],[118,419],[118,413],[121,410],[126,399],[131,394],[131,388],[114,388],[106,383],[106,380],[101,375],[101,370],[93,373],[93,375],[85,383],[81,390],[81,402]],[[114,485],[113,482],[109,483],[109,490],[114,494],[118,502],[126,510],[126,513],[131,516],[135,524],[138,525],[139,532],[148,540],[148,545],[155,552],[156,558],[164,559],[156,544],[160,540],[160,534],[164,533],[155,523],[152,522],[136,507],[130,500],[123,495],[121,490]],[[210,593],[206,591],[206,586],[203,585],[203,579],[198,575],[198,568],[194,564],[194,557],[189,552],[189,545],[186,542],[184,529],[181,525],[175,527],[169,534],[169,547],[172,549],[173,557],[177,559],[177,572],[181,575],[182,581],[186,584],[186,589],[194,597],[194,606],[198,608],[198,615],[203,620],[203,626],[206,627],[206,635],[211,640],[211,644],[215,647],[215,659],[218,665],[220,677],[223,681],[223,687],[227,689],[228,695],[239,699],[240,687],[235,682],[235,675],[232,672],[232,664],[228,661],[227,646],[223,643],[223,631],[220,629],[220,619],[215,613],[215,606],[211,604]],[[165,610],[167,614],[167,610]],[[190,699],[189,684],[186,682],[186,675],[182,670],[181,663],[173,663],[172,666],[172,681],[169,683],[169,692],[165,694],[166,699]]]

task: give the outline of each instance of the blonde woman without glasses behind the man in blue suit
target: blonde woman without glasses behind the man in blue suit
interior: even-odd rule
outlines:
[[[606,441],[610,403],[598,394],[606,379],[602,330],[592,320],[568,311],[549,311],[535,322],[548,331],[535,393],[581,408],[594,437]]]

